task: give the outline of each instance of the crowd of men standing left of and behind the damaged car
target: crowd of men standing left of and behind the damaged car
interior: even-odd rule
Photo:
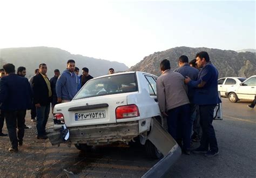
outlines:
[[[5,64],[0,73],[0,136],[9,135],[11,147],[9,152],[17,153],[18,146],[23,145],[26,110],[31,109],[31,121],[36,122],[37,139],[47,139],[45,127],[53,107],[62,102],[69,102],[75,97],[80,88],[93,77],[89,69],[84,67],[82,75],[75,66],[75,60],[68,60],[66,70],[60,74],[54,70],[54,76],[49,80],[47,65],[39,64],[35,75],[29,80],[25,78],[26,68],[18,67],[15,73],[13,64]],[[109,69],[109,74],[114,70]],[[4,118],[8,134],[2,132]]]

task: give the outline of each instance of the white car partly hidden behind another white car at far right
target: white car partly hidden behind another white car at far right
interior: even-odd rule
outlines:
[[[233,86],[239,86],[246,78],[242,77],[225,77],[218,80],[218,91],[221,97],[226,97],[225,92],[227,88]]]

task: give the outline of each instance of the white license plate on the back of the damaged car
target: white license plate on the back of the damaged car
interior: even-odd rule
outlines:
[[[105,111],[91,111],[75,113],[75,120],[103,119],[106,118]]]

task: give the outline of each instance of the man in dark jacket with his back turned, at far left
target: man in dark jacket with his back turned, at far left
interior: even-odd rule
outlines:
[[[23,144],[26,109],[31,108],[32,91],[29,80],[15,74],[13,64],[5,64],[3,68],[7,76],[1,81],[0,103],[5,113],[6,126],[12,145],[9,151],[17,153],[18,144],[19,146]],[[16,127],[18,133],[16,133]]]

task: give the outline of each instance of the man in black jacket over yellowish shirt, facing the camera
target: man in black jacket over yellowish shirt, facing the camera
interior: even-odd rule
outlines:
[[[39,74],[33,78],[33,104],[36,106],[37,139],[47,139],[45,126],[50,112],[50,102],[52,97],[50,80],[46,76],[46,64],[39,65]]]

